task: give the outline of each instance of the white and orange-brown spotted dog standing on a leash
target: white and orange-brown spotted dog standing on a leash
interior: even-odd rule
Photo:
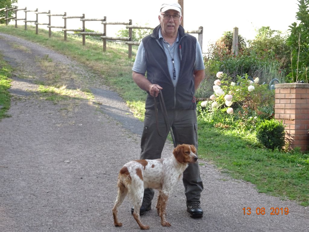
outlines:
[[[169,158],[136,160],[126,163],[118,176],[118,193],[113,208],[114,225],[122,226],[122,223],[118,221],[117,213],[128,194],[134,206],[134,219],[142,230],[149,229],[149,226],[142,224],[139,209],[142,206],[144,189],[153,188],[159,190],[156,208],[161,217],[161,225],[171,226],[166,221],[167,199],[188,164],[197,161],[195,153],[196,148],[193,145],[181,144],[173,150],[173,155]]]

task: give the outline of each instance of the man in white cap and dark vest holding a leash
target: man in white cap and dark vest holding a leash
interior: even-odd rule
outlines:
[[[164,115],[158,103],[160,91],[176,144],[193,144],[198,147],[194,93],[205,77],[205,67],[197,39],[185,33],[184,28],[180,26],[181,11],[177,2],[161,5],[160,25],[151,35],[142,39],[132,68],[134,82],[148,93],[141,139],[141,159],[160,158],[168,135]],[[154,98],[157,98],[159,109],[157,115]],[[185,170],[183,183],[187,211],[191,217],[202,217],[200,197],[203,183],[197,162],[190,164]],[[145,189],[140,208],[141,215],[151,209],[153,196],[152,189]]]

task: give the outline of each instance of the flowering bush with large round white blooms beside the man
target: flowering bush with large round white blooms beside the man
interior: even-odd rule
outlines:
[[[274,92],[259,84],[259,78],[238,76],[235,83],[225,73],[216,76],[220,79],[214,81],[214,94],[198,104],[197,112],[204,120],[216,127],[255,130],[259,122],[273,118]]]

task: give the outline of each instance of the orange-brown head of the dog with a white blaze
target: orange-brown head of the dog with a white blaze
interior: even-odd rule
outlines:
[[[173,154],[176,160],[182,164],[197,161],[196,148],[193,145],[181,144],[174,148]]]

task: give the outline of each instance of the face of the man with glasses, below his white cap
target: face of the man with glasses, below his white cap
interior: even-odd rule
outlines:
[[[170,17],[168,19],[165,19],[163,14],[170,15]],[[173,19],[172,15],[180,15],[180,13],[178,11],[168,10],[165,12],[161,12],[161,15],[159,15],[159,21],[163,34],[168,36],[173,36],[177,34],[179,25],[182,20],[182,16],[180,16],[179,19]]]

